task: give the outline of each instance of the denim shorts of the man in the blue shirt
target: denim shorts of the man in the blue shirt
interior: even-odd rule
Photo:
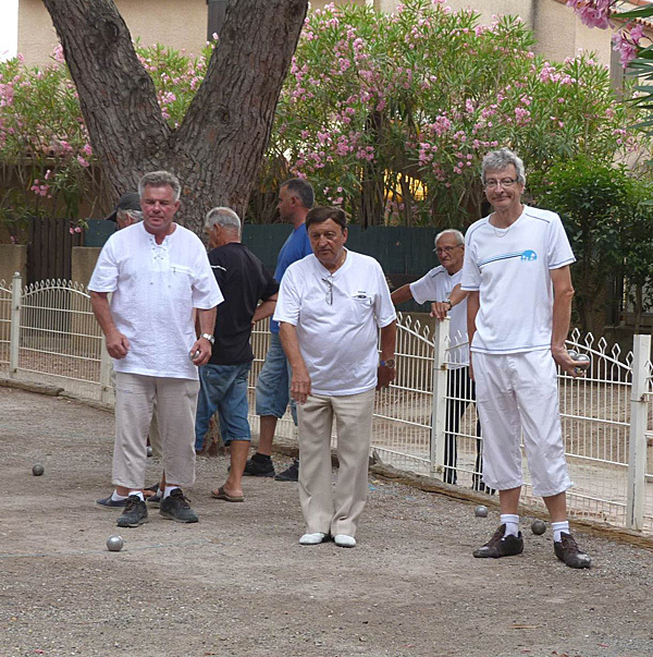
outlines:
[[[270,333],[270,349],[256,382],[256,414],[284,416],[291,388],[291,366],[287,362],[279,333]],[[293,419],[297,424],[295,402],[291,402]]]

